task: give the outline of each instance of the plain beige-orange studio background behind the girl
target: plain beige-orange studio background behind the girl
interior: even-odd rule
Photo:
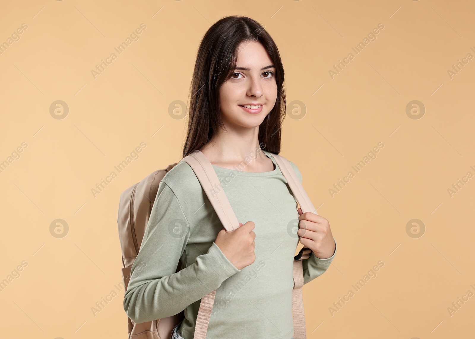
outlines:
[[[475,174],[475,60],[452,78],[447,71],[475,57],[474,10],[468,0],[3,1],[0,42],[28,28],[0,54],[0,161],[22,150],[0,173],[0,280],[24,264],[0,292],[1,337],[126,338],[123,290],[91,311],[122,281],[119,195],[181,159],[186,119],[173,119],[169,105],[188,100],[206,30],[240,14],[275,39],[288,103],[306,108],[304,116],[289,109],[281,154],[301,169],[338,242],[328,271],[304,286],[308,337],[469,338],[475,297],[448,308],[475,293],[475,179],[452,197],[447,189]],[[94,78],[142,23],[139,40]],[[352,52],[380,23],[377,39]],[[57,100],[69,108],[64,119],[50,114]],[[422,118],[407,115],[413,100]],[[94,197],[141,142],[140,157]],[[379,142],[376,159],[356,173]],[[50,233],[55,219],[69,227],[63,238]],[[406,231],[412,219],[425,227],[417,238]]]

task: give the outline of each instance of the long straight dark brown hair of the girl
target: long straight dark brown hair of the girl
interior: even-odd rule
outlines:
[[[261,43],[276,66],[276,104],[260,124],[258,138],[263,150],[275,154],[280,152],[286,102],[284,68],[279,50],[269,33],[256,20],[233,15],[219,19],[208,29],[199,44],[190,85],[188,131],[183,158],[206,145],[219,128],[225,129],[219,110],[219,88],[236,67],[239,44],[247,41]]]

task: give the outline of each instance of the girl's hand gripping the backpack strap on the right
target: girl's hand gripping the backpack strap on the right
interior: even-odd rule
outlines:
[[[328,220],[312,212],[302,213],[300,207],[298,214],[300,243],[310,248],[317,258],[330,258],[335,252],[335,241]]]

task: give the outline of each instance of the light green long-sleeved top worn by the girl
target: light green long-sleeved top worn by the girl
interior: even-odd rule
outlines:
[[[276,160],[264,154],[274,163],[273,171],[213,165],[237,220],[256,225],[256,261],[241,270],[214,243],[223,226],[190,165],[182,161],[165,175],[124,295],[131,320],[151,321],[185,310],[180,333],[192,339],[200,300],[216,289],[206,338],[292,338],[299,214]],[[302,182],[300,170],[291,165]],[[336,247],[330,258],[312,254],[304,260],[304,283],[324,273],[335,254]],[[179,260],[183,269],[175,273]]]

